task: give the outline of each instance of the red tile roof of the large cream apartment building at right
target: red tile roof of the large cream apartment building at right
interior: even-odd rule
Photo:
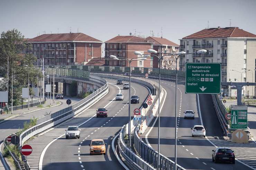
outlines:
[[[194,38],[222,38],[222,37],[256,37],[255,34],[249,33],[238,27],[226,27],[226,28],[209,28],[203,29],[199,32],[193,33],[182,39],[194,39]]]

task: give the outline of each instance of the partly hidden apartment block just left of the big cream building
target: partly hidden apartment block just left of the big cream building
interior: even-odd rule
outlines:
[[[158,52],[165,52],[165,54],[160,54],[161,56],[166,55],[166,53],[172,53],[172,54],[177,54],[179,52],[179,45],[167,40],[166,38],[163,37],[147,37],[146,40],[149,42],[154,42],[153,44],[153,49],[158,51]],[[179,61],[177,61],[177,69],[179,70]],[[176,60],[174,56],[164,56],[163,60],[161,60],[160,66],[161,69],[171,69],[175,70],[176,67]],[[153,68],[158,68],[159,63],[158,59],[156,57],[153,58]]]

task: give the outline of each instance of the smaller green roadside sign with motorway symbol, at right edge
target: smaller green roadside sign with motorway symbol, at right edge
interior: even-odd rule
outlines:
[[[247,129],[247,106],[231,105],[231,129]]]

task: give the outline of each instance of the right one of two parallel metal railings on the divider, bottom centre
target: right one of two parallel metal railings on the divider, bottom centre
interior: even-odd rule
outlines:
[[[149,147],[143,142],[138,136],[138,126],[134,130],[134,147],[138,152],[139,156],[146,161],[150,166],[157,169],[158,165],[158,152],[153,148]],[[177,164],[178,170],[185,170],[183,167]],[[171,159],[163,156],[160,153],[160,168],[159,170],[174,170],[174,162]]]

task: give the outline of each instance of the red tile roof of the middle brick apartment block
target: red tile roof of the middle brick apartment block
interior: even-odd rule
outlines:
[[[125,43],[152,43],[147,42],[144,38],[139,38],[136,36],[116,36],[105,43],[112,43],[112,42],[125,42]]]

